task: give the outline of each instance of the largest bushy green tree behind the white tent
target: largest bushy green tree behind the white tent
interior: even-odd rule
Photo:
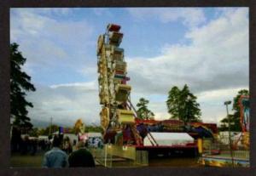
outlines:
[[[200,105],[196,102],[196,96],[189,91],[187,84],[180,90],[177,86],[172,87],[168,93],[166,105],[171,118],[183,122],[200,122]]]

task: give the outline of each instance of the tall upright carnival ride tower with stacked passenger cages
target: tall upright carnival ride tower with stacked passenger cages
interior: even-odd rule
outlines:
[[[143,145],[135,124],[136,112],[131,110],[131,86],[126,84],[127,64],[124,49],[119,48],[123,33],[120,26],[109,24],[98,37],[97,65],[100,112],[105,143]]]

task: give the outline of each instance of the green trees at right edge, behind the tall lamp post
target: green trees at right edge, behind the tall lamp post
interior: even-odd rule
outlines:
[[[240,122],[240,106],[239,106],[239,99],[241,95],[249,95],[249,91],[247,89],[241,89],[236,94],[236,97],[233,99],[233,107],[232,110],[234,111],[234,114],[230,115],[230,130],[231,131],[241,131],[241,122]],[[228,130],[228,118],[224,117],[224,119],[221,120],[220,128],[219,130],[225,131]]]

